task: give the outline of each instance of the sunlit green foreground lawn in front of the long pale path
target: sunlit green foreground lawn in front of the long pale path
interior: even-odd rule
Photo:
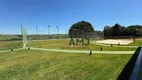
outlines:
[[[0,80],[116,80],[132,55],[22,50],[0,54]]]

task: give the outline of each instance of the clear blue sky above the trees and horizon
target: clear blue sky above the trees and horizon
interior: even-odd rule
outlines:
[[[119,23],[142,25],[142,0],[0,0],[0,34],[67,33],[72,24],[87,21],[95,30]]]

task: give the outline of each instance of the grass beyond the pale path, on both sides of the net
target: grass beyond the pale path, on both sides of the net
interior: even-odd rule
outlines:
[[[140,42],[142,40],[137,40],[135,43],[130,43],[125,46],[141,46]],[[93,44],[92,41],[90,41],[89,46],[69,46],[69,39],[60,39],[59,44],[58,40],[33,40],[29,41],[27,44],[27,47],[39,47],[41,46],[42,48],[48,48],[48,49],[71,49],[71,50],[96,50],[99,51],[100,47],[103,48],[103,51],[135,51],[136,47],[111,47],[109,46],[102,46],[102,45],[96,45]],[[117,46],[117,45],[115,45]],[[71,47],[71,48],[70,48]],[[22,48],[22,41],[0,41],[0,50],[7,50],[10,48]]]

